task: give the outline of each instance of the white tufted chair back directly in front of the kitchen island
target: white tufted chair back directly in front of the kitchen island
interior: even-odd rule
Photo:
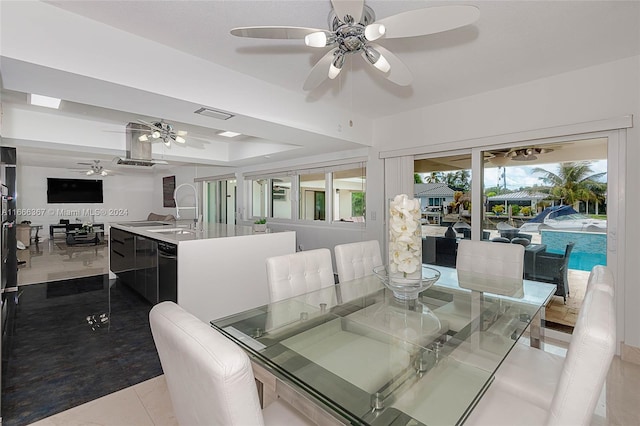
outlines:
[[[322,248],[267,258],[271,302],[335,284],[331,252]]]

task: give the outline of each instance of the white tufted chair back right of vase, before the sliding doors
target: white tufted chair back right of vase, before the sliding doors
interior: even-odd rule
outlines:
[[[458,284],[469,290],[520,297],[524,247],[460,240],[456,260]]]

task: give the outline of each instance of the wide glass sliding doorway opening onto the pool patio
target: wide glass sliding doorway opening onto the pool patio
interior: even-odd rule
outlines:
[[[474,239],[511,242],[519,237],[527,239],[531,247],[539,247],[540,253],[556,257],[572,243],[566,303],[562,294],[556,295],[546,309],[547,328],[570,334],[591,268],[607,264],[607,153],[605,136],[418,157],[414,162],[415,192],[421,200],[423,236],[442,236],[453,228],[459,238],[473,234]],[[481,167],[473,174],[480,185],[462,185],[466,178],[460,177],[467,176],[463,172],[472,180],[474,155],[480,157],[475,158]],[[474,197],[471,188],[480,188],[479,196]],[[567,208],[562,217],[542,214],[546,208],[560,206]],[[473,218],[479,218],[477,223]],[[447,258],[447,253],[436,250],[430,261],[438,264]],[[525,273],[526,269],[525,265]],[[562,280],[533,273],[525,278],[553,283]]]

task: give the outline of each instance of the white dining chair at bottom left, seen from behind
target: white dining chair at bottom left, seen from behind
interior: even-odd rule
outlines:
[[[280,399],[262,410],[247,354],[177,304],[155,305],[149,322],[181,425],[313,424]]]

